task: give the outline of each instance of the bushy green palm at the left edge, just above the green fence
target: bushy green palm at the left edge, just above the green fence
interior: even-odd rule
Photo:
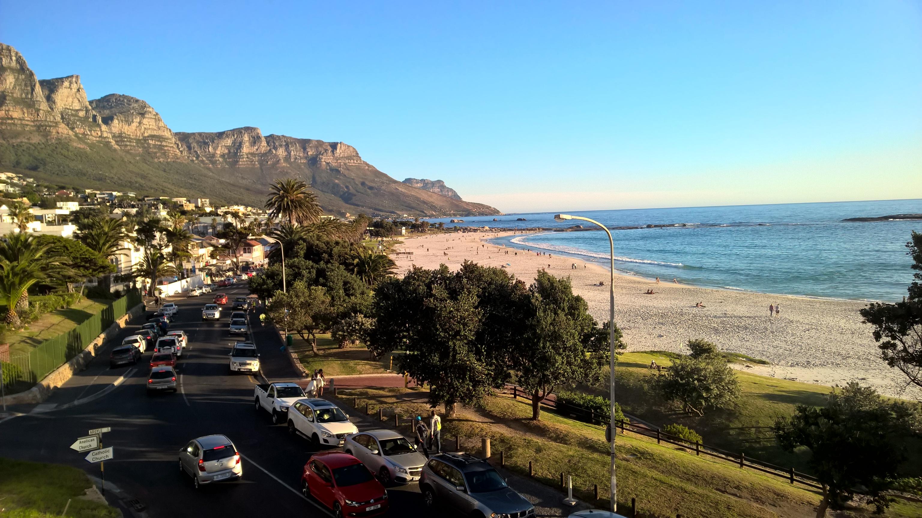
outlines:
[[[10,232],[0,242],[0,297],[6,302],[6,324],[18,327],[17,310],[29,308],[29,288],[49,277],[59,259],[48,254],[51,245],[40,245],[25,232]]]

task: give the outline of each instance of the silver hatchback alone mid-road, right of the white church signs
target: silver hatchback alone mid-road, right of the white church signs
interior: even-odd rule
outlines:
[[[179,468],[192,477],[195,489],[202,484],[237,481],[243,477],[240,452],[224,435],[207,435],[189,441],[179,451]]]

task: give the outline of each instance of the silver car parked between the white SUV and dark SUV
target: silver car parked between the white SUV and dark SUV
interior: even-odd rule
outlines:
[[[408,484],[418,481],[422,466],[426,464],[426,457],[416,451],[416,446],[393,430],[369,430],[347,435],[343,450],[367,465],[384,486],[391,482]]]

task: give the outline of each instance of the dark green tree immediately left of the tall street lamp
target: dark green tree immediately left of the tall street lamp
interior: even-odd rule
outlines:
[[[540,271],[528,295],[524,340],[514,348],[513,368],[538,420],[541,401],[555,389],[601,379],[609,359],[608,333],[603,336],[588,303],[573,294],[569,278]],[[623,348],[621,330],[616,329],[616,339],[616,348]]]

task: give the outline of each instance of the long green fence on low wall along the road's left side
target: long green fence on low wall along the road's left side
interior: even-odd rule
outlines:
[[[11,356],[8,363],[3,362],[4,384],[12,392],[18,392],[39,383],[51,371],[77,356],[112,323],[140,303],[140,291],[129,290],[127,295],[113,300],[101,312],[67,333],[45,340],[29,353]]]

